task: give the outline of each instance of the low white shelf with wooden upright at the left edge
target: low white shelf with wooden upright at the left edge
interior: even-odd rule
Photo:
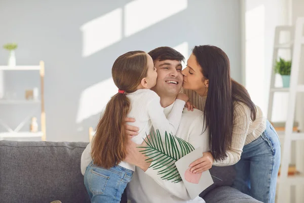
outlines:
[[[25,118],[15,129],[10,128],[5,122],[0,121],[0,125],[4,126],[7,131],[0,132],[0,140],[7,138],[37,138],[40,137],[42,141],[46,141],[46,114],[44,106],[44,76],[45,76],[45,64],[44,61],[40,61],[39,65],[17,65],[7,66],[0,65],[0,71],[39,71],[40,73],[40,90],[41,100],[26,100],[26,99],[0,99],[0,105],[27,105],[27,104],[39,104],[41,105],[41,131],[30,132],[20,131],[25,123],[30,119],[30,116]]]

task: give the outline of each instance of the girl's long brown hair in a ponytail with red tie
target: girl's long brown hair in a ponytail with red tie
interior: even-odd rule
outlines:
[[[113,81],[125,93],[136,91],[141,79],[146,76],[147,54],[143,51],[127,52],[113,63]],[[129,111],[130,100],[126,94],[117,93],[111,97],[92,141],[94,164],[110,168],[125,159],[129,139],[125,129],[125,118]]]

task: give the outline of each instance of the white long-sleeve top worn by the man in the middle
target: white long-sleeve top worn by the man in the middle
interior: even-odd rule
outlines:
[[[166,115],[169,115],[173,105],[164,109]],[[209,151],[208,129],[203,129],[203,112],[194,109],[194,111],[184,110],[181,122],[176,132],[176,136],[189,142],[194,148],[203,148],[203,151]],[[172,183],[162,180],[157,171],[148,168],[143,172],[136,167],[131,182],[127,186],[127,196],[131,203],[203,203],[204,199],[197,197],[191,200],[184,183]]]

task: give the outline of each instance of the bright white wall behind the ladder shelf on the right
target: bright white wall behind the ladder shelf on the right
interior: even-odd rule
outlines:
[[[289,21],[288,0],[246,0],[246,88],[267,115],[275,27]],[[288,58],[288,52],[279,51]],[[282,86],[280,76],[276,86]],[[287,94],[275,93],[272,121],[285,121]]]

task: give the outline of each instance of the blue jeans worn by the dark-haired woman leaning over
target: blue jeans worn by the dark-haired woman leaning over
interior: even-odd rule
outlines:
[[[233,187],[255,199],[274,203],[281,161],[278,134],[269,121],[261,136],[245,145],[241,160],[235,164]]]

